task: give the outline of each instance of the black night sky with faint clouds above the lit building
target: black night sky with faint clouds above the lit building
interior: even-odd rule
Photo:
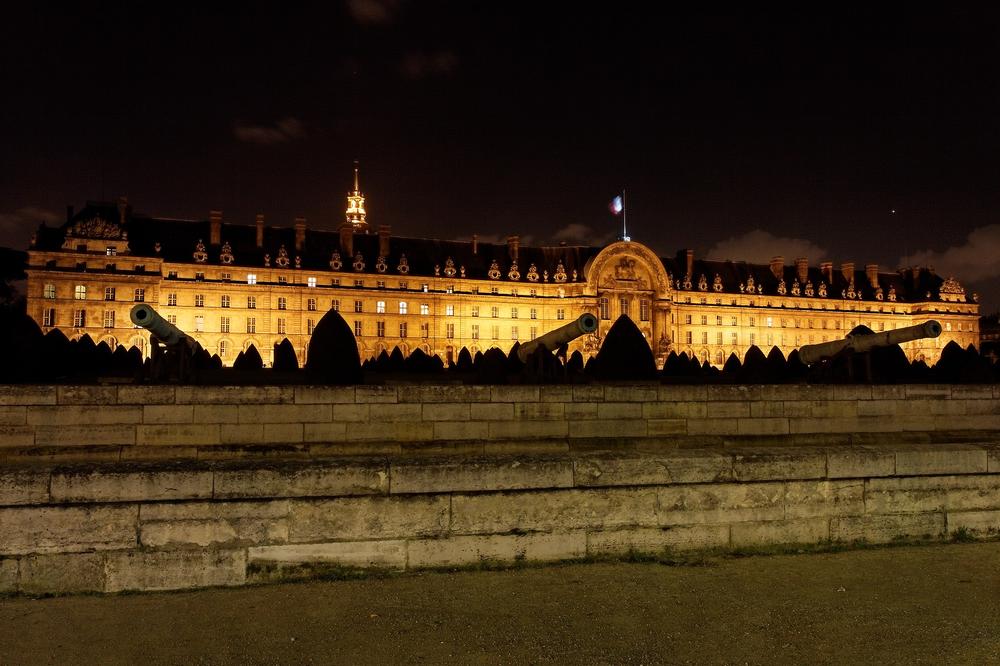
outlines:
[[[279,6],[5,10],[0,245],[120,195],[335,228],[358,159],[400,235],[604,242],[625,186],[664,255],[930,263],[1000,307],[995,13]]]

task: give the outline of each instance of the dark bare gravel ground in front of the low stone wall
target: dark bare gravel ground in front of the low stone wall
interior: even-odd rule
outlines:
[[[0,600],[4,665],[998,660],[998,542]]]

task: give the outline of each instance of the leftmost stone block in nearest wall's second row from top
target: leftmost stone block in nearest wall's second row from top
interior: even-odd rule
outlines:
[[[139,507],[0,509],[0,555],[134,548]]]

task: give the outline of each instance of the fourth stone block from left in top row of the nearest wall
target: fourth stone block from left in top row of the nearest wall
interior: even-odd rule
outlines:
[[[450,493],[528,488],[569,488],[569,458],[397,460],[389,465],[391,492]]]

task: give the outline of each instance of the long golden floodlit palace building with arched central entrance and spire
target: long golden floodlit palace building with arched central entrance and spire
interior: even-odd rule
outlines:
[[[955,340],[979,345],[979,306],[931,269],[877,264],[770,265],[702,260],[690,250],[660,257],[642,243],[526,246],[408,238],[371,225],[358,182],[337,231],[227,220],[149,217],[124,199],[88,202],[58,228],[42,226],[29,249],[28,314],[43,332],[89,335],[149,353],[133,326],[136,302],[153,304],[227,365],[253,344],[265,364],[288,338],[304,361],[309,336],[331,308],[353,327],[362,359],[400,347],[448,362],[462,347],[507,351],[591,312],[595,334],[570,351],[597,352],[620,315],[645,334],[658,362],[675,351],[722,365],[751,345],[786,355],[842,338],[859,324],[884,331],[941,322],[939,338],[903,345],[933,363]]]

